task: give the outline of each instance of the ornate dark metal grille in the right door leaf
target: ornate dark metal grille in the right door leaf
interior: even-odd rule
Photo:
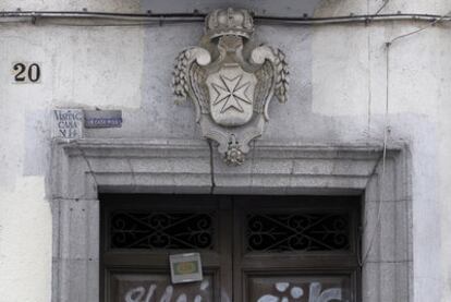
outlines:
[[[336,251],[350,249],[348,214],[248,214],[247,251]]]

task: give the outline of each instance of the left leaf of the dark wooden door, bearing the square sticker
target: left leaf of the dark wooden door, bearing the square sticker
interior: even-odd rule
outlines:
[[[227,301],[232,292],[229,198],[103,195],[101,202],[101,301]],[[204,280],[172,285],[169,255],[193,251],[200,253]]]

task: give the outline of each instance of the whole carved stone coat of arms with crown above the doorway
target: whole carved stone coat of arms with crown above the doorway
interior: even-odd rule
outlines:
[[[231,166],[242,165],[249,143],[261,136],[271,98],[288,97],[285,56],[256,47],[253,33],[246,10],[216,10],[206,17],[200,46],[183,50],[173,72],[175,101],[193,100],[203,135],[219,144]]]

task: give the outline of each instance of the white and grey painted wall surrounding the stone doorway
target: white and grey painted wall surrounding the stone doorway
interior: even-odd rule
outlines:
[[[375,12],[382,1],[325,0],[317,16]],[[3,0],[1,10],[139,12],[146,1]],[[307,5],[308,7],[308,5]],[[269,5],[270,9],[270,5]],[[383,12],[442,14],[448,0],[392,0]],[[378,143],[386,123],[386,47],[424,24],[259,26],[283,49],[292,89],[271,104],[263,140]],[[68,27],[0,24],[0,300],[44,302],[51,294],[49,176],[52,108],[122,109],[122,129],[88,137],[199,138],[190,104],[172,102],[173,59],[196,45],[202,24]],[[451,25],[401,39],[390,50],[389,141],[411,145],[414,301],[451,297]],[[42,82],[12,84],[14,61],[40,62]],[[295,126],[293,126],[295,125]],[[291,131],[287,131],[290,129]]]

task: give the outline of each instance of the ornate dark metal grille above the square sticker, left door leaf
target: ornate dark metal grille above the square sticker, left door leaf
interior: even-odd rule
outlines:
[[[215,214],[115,212],[110,215],[111,249],[214,249]]]

